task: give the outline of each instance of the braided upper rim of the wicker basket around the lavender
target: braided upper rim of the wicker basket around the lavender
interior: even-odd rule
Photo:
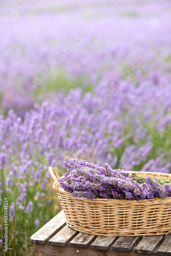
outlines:
[[[171,179],[171,174],[164,174],[164,173],[154,173],[154,172],[136,172],[136,171],[134,171],[134,170],[125,170],[125,172],[127,172],[127,173],[139,173],[139,174],[141,174],[141,175],[144,175],[144,176],[146,176],[147,174],[153,174],[153,175],[156,175],[156,176],[165,176],[165,178],[167,178],[166,176],[168,176],[168,177],[170,177],[170,179]],[[147,175],[147,176],[149,176],[149,175]],[[61,176],[60,177],[61,179],[63,179],[64,178],[64,176]],[[153,177],[152,177],[153,178]],[[56,190],[56,189],[55,189]],[[171,197],[166,197],[166,198],[153,198],[153,199],[142,199],[142,200],[124,200],[124,199],[115,199],[115,198],[112,198],[112,199],[106,199],[106,198],[94,198],[94,199],[88,199],[88,198],[86,198],[86,197],[74,197],[74,196],[72,196],[71,195],[71,193],[69,192],[69,191],[66,191],[65,189],[63,189],[61,186],[60,186],[60,184],[59,184],[59,186],[58,186],[58,189],[56,190],[57,191],[57,193],[59,192],[59,193],[64,193],[64,194],[67,194],[68,196],[70,196],[70,197],[72,197],[72,198],[74,198],[74,199],[76,199],[76,200],[86,200],[87,202],[90,202],[90,203],[92,203],[92,202],[100,202],[100,201],[102,201],[102,202],[108,202],[108,203],[123,203],[123,202],[127,202],[127,203],[132,203],[132,202],[138,202],[138,203],[143,203],[143,202],[156,202],[156,201],[166,201],[166,200],[170,200],[171,199]]]

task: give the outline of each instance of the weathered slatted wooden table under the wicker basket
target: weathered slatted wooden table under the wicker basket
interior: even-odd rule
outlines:
[[[171,256],[171,234],[119,238],[97,237],[70,228],[66,224],[63,211],[33,234],[30,241],[35,244],[35,251],[44,255]]]

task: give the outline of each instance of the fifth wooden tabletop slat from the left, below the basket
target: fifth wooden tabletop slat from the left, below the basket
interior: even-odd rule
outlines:
[[[112,248],[114,251],[130,252],[140,238],[141,237],[121,237]]]

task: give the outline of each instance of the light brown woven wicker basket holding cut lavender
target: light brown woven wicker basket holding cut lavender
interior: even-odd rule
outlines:
[[[60,187],[52,167],[54,180],[67,224],[73,229],[96,236],[155,236],[171,232],[171,197],[145,200],[75,198]],[[170,179],[170,174],[141,172],[142,177]]]

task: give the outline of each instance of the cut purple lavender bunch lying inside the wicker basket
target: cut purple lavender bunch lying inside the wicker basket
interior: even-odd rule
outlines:
[[[112,169],[108,163],[101,167],[76,159],[63,164],[68,170],[59,184],[74,197],[141,200],[171,196],[171,180],[142,178],[134,172]]]

